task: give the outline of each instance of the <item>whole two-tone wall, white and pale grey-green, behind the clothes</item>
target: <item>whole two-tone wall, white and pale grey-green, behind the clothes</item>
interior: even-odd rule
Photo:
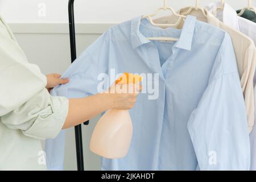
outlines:
[[[199,4],[205,6],[210,2],[217,2],[217,0],[201,0]],[[226,2],[235,10],[247,6],[247,0],[227,0]],[[44,17],[38,16],[39,3],[46,5]],[[167,0],[167,4],[179,10],[195,5],[195,1]],[[253,4],[256,5],[256,0],[253,0]],[[100,36],[105,27],[108,27],[108,23],[119,23],[138,15],[149,14],[162,5],[162,0],[75,0],[76,22],[82,23],[81,27],[85,27],[76,37],[77,55]],[[68,68],[70,64],[68,0],[6,0],[2,16],[13,28],[16,39],[28,60],[38,64],[44,74],[63,73]],[[63,29],[63,23],[65,33],[60,31]],[[90,25],[88,28],[87,23],[93,23],[96,27],[92,28]],[[49,25],[50,29],[47,28]],[[99,32],[99,29],[103,31]],[[90,31],[85,33],[83,30]],[[79,28],[77,28],[78,31]],[[89,150],[90,136],[97,119],[92,119],[89,126],[82,126],[84,162],[87,170],[100,169],[100,158]],[[76,170],[73,129],[67,130],[66,139],[64,169]]]

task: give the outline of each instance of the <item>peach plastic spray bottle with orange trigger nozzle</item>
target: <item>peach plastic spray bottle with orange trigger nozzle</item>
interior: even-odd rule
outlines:
[[[115,84],[121,84],[122,92],[135,92],[142,77],[124,73]],[[108,159],[123,158],[129,151],[133,136],[133,123],[129,110],[110,109],[97,122],[90,140],[90,150]]]

